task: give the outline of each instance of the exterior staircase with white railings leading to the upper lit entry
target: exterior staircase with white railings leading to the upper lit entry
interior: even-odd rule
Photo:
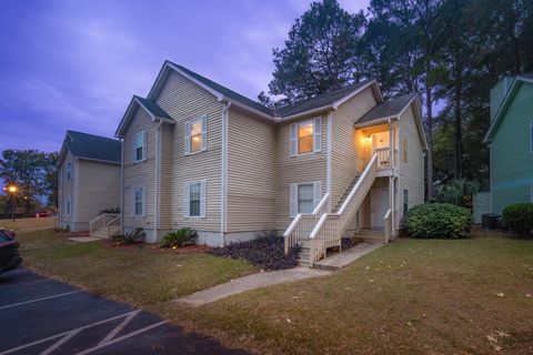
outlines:
[[[325,257],[329,247],[336,246],[341,251],[342,236],[372,187],[378,169],[378,153],[374,153],[363,173],[355,176],[348,186],[335,205],[335,212],[328,210],[330,194],[326,193],[312,213],[299,213],[283,233],[285,254],[298,244],[301,247],[300,265],[312,267],[314,263]],[[389,210],[385,215],[385,243],[389,241],[391,231],[392,217]],[[381,233],[381,240],[383,241],[383,233]]]

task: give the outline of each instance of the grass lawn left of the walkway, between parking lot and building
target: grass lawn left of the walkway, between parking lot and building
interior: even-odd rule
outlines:
[[[17,233],[23,264],[111,300],[151,308],[255,271],[243,262],[208,254],[174,254],[115,248],[101,241],[72,243],[67,233],[28,230]]]

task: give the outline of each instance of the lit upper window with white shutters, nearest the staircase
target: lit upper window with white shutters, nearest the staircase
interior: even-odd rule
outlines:
[[[290,126],[291,155],[301,155],[322,150],[322,118],[294,122]]]

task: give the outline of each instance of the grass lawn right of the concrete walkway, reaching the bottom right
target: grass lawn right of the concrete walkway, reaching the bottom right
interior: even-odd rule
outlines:
[[[405,240],[322,278],[187,313],[229,345],[283,354],[533,354],[533,241]],[[170,313],[170,311],[169,311]]]

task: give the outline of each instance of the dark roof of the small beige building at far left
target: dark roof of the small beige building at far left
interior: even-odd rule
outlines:
[[[87,159],[120,164],[120,142],[110,138],[89,133],[67,131],[61,148],[60,162],[69,150],[78,159]]]

